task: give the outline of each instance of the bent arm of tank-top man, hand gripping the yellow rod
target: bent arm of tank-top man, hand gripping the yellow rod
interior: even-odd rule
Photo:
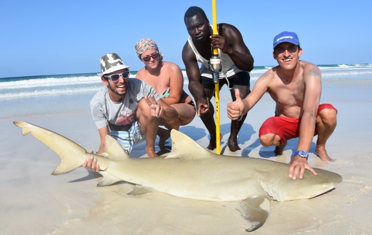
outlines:
[[[240,31],[231,24],[218,24],[219,35],[211,35],[211,46],[228,54],[242,71],[252,71],[254,59],[243,41]]]

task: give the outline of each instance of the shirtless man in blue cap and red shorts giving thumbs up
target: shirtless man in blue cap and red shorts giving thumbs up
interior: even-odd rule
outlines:
[[[318,135],[315,153],[322,161],[334,161],[326,152],[326,141],[336,128],[337,110],[330,104],[319,105],[321,71],[310,62],[300,61],[302,48],[296,33],[279,33],[273,47],[273,56],[279,66],[260,76],[244,99],[240,99],[236,90],[236,101],[228,104],[228,117],[235,120],[247,114],[265,92],[269,93],[276,102],[275,117],[262,124],[259,140],[265,147],[276,146],[275,154],[281,155],[287,140],[299,137],[288,175],[295,180],[300,173],[302,179],[305,169],[316,175],[307,163],[315,135]]]

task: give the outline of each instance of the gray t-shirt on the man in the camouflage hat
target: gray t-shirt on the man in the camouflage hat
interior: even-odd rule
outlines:
[[[91,112],[98,129],[109,126],[111,131],[128,131],[136,120],[140,100],[151,94],[160,99],[155,90],[137,78],[128,78],[128,90],[124,99],[115,103],[111,100],[108,87],[100,89],[91,100]]]

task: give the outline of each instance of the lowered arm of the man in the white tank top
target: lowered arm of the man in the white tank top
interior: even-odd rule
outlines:
[[[208,112],[208,103],[205,98],[204,87],[200,82],[198,62],[188,42],[186,42],[182,50],[182,60],[184,61],[188,78],[188,90],[195,99],[198,117],[200,117],[200,114]]]

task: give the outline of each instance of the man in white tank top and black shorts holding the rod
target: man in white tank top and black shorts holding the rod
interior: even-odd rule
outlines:
[[[183,51],[182,59],[185,64],[188,77],[188,90],[195,99],[200,117],[206,126],[210,141],[208,149],[216,148],[216,124],[214,122],[214,108],[209,101],[214,94],[214,83],[209,71],[208,61],[212,57],[212,49],[218,48],[222,59],[222,71],[220,75],[229,80],[232,100],[235,100],[234,89],[239,88],[241,98],[250,92],[249,71],[253,70],[253,57],[244,44],[239,30],[231,24],[217,24],[217,35],[213,35],[212,27],[205,12],[192,6],[187,9],[184,17],[188,38]],[[202,64],[198,67],[198,62]],[[219,80],[219,89],[227,83],[227,79]],[[238,120],[232,120],[228,147],[231,152],[240,150],[237,143],[238,132],[247,116]],[[222,139],[222,135],[221,138]]]

